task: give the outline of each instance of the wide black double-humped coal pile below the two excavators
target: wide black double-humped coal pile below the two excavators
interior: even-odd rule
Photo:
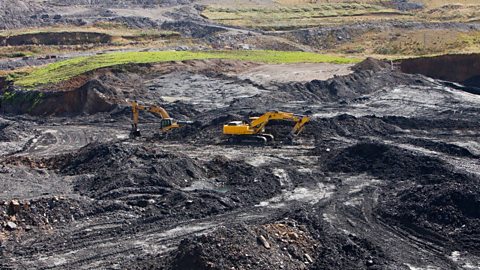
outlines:
[[[144,208],[152,220],[219,214],[281,191],[278,178],[267,169],[224,158],[201,162],[148,143],[93,143],[55,161],[48,164],[63,174],[80,175],[75,191]]]

